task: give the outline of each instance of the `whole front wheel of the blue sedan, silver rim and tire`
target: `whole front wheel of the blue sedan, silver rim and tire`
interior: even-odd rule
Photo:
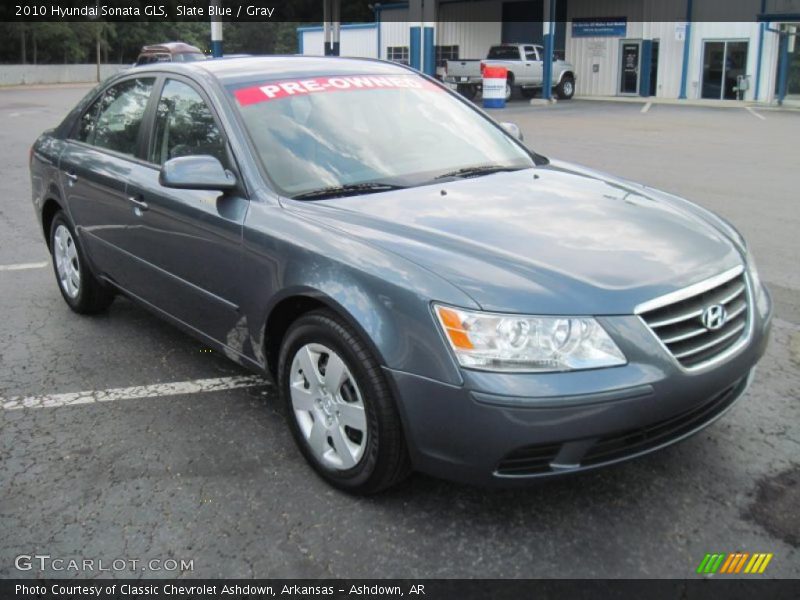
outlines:
[[[292,434],[324,479],[371,494],[409,473],[394,398],[350,326],[327,311],[301,317],[286,333],[278,368]]]

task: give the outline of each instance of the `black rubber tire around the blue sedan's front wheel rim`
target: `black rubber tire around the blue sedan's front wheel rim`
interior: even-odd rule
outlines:
[[[367,424],[364,451],[355,466],[346,470],[331,468],[315,456],[294,411],[292,362],[308,344],[320,344],[336,352],[363,399]],[[400,416],[383,371],[358,333],[334,313],[310,312],[291,325],[281,344],[278,385],[295,442],[308,463],[331,485],[352,494],[368,495],[397,485],[411,472]]]

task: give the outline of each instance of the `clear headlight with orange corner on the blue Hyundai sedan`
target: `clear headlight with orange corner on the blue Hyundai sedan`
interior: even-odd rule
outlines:
[[[531,317],[434,305],[462,367],[485,371],[570,371],[624,365],[591,317]]]

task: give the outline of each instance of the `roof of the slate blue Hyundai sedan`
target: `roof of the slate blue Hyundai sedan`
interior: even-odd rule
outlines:
[[[409,73],[407,67],[383,60],[302,55],[223,57],[191,63],[157,63],[137,67],[138,70],[204,73],[226,86],[282,78]]]

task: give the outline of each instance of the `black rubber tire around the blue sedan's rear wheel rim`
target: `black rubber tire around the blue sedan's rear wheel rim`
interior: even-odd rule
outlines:
[[[57,258],[56,232],[59,227],[64,227],[69,232],[69,242],[74,245],[74,257],[70,260],[73,268],[79,274],[78,284],[75,286],[74,293],[65,289],[65,284],[59,274]],[[76,313],[82,315],[93,315],[103,312],[114,301],[114,291],[104,285],[94,276],[86,261],[86,255],[81,247],[78,236],[75,235],[75,228],[69,222],[63,211],[58,211],[53,217],[50,225],[50,255],[53,260],[53,271],[56,275],[56,283],[61,292],[61,296],[67,305]]]

